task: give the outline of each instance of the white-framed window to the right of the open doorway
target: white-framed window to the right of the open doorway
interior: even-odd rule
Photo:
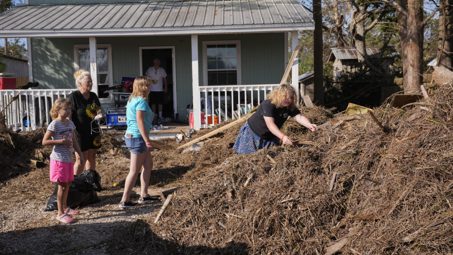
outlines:
[[[240,85],[239,41],[203,42],[204,85]]]

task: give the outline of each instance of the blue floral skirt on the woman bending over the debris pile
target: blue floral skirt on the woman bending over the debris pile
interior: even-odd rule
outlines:
[[[250,154],[275,144],[280,144],[280,140],[277,137],[271,140],[261,138],[250,129],[247,121],[239,131],[233,150],[238,154]]]

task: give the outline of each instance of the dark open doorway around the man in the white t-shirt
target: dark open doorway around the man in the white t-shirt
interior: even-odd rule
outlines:
[[[160,67],[164,68],[167,73],[168,92],[164,94],[162,117],[174,119],[174,113],[178,109],[176,105],[174,47],[140,47],[140,75],[145,75],[148,68],[153,68],[153,61],[156,58],[160,60]],[[152,103],[150,101],[150,105]]]

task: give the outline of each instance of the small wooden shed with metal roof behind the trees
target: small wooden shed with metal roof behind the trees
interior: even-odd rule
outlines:
[[[383,55],[383,47],[366,47],[366,53],[371,59],[379,59],[380,66],[384,68],[385,72],[390,72],[396,57],[400,57],[395,47],[386,47],[390,50],[390,53]],[[355,47],[344,47],[344,48],[331,48],[329,55],[329,62],[333,63],[333,79],[338,81],[339,77],[343,72],[354,72],[354,64],[359,63],[357,59],[358,52]]]

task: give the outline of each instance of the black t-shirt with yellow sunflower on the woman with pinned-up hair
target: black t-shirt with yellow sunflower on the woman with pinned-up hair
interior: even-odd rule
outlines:
[[[68,100],[73,102],[71,111],[73,113],[72,120],[76,125],[76,135],[91,135],[91,122],[101,108],[99,98],[94,92],[90,91],[90,97],[85,99],[82,93],[77,90],[69,94]]]

